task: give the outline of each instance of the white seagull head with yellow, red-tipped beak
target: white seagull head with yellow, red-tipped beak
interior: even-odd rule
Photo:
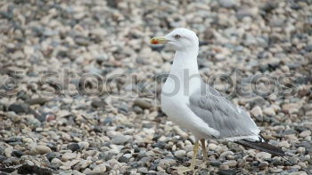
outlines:
[[[196,34],[186,28],[177,28],[168,33],[167,36],[154,37],[151,44],[170,44],[175,50],[188,50],[198,47],[199,41]]]

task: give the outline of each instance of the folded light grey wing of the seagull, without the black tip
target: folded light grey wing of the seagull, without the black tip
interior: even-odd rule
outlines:
[[[234,106],[208,84],[202,83],[201,88],[190,96],[189,107],[209,127],[220,132],[218,139],[245,139],[259,134],[249,113]]]

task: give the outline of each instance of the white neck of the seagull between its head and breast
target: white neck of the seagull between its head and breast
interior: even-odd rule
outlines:
[[[177,51],[170,74],[181,77],[199,75],[197,65],[198,47],[192,50]]]

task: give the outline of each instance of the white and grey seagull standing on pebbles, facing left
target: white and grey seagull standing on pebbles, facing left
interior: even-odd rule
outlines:
[[[203,161],[208,163],[206,139],[234,141],[272,155],[285,155],[281,148],[268,144],[261,136],[249,112],[201,80],[197,64],[199,39],[192,30],[174,29],[167,36],[152,38],[151,44],[169,44],[176,51],[161,89],[161,110],[195,137],[191,165],[177,168],[178,172],[194,171],[199,142]]]

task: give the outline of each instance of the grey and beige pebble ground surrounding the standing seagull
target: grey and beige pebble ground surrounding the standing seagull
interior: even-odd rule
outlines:
[[[312,174],[309,0],[1,1],[0,174],[177,174],[172,167],[189,165],[193,136],[158,100],[173,52],[149,44],[180,27],[200,37],[201,76],[215,77],[290,155],[209,140],[210,162],[197,172]],[[244,93],[277,80],[267,95]]]

